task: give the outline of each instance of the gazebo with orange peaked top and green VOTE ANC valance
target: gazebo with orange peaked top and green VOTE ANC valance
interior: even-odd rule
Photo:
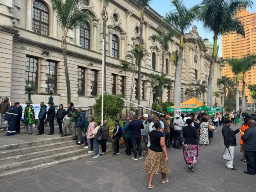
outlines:
[[[197,112],[208,110],[208,106],[198,101],[195,97],[180,104],[181,112]],[[174,106],[168,107],[167,112],[174,112]]]

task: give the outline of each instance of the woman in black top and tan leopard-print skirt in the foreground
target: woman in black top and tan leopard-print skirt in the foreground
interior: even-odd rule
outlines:
[[[156,130],[152,130],[149,134],[150,147],[148,152],[148,158],[142,171],[149,174],[148,188],[154,188],[152,180],[155,174],[162,174],[162,183],[166,183],[169,180],[166,178],[166,173],[170,173],[168,167],[168,154],[166,150],[164,134],[160,131],[162,126],[160,122],[154,122]]]

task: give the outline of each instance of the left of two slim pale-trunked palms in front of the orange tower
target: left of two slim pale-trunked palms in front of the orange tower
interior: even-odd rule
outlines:
[[[232,72],[236,75],[234,79],[236,82],[236,111],[239,111],[239,82],[240,82],[240,73],[242,72],[242,65],[240,59],[225,59],[224,62],[227,62],[231,66]]]

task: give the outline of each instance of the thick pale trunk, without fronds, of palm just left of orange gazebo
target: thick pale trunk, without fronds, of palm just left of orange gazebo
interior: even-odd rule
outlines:
[[[183,37],[183,36],[182,36]],[[182,38],[181,37],[181,38]],[[174,114],[177,110],[180,110],[181,104],[181,72],[182,72],[182,57],[183,57],[183,43],[180,46],[180,52],[178,55],[178,61],[175,71],[175,80],[174,80]]]

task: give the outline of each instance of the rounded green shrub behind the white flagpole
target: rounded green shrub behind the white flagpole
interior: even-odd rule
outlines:
[[[124,108],[124,100],[120,99],[121,95],[112,96],[109,94],[104,94],[104,119],[116,119],[118,113],[122,112]],[[101,116],[101,95],[93,106],[94,112],[98,117]]]

